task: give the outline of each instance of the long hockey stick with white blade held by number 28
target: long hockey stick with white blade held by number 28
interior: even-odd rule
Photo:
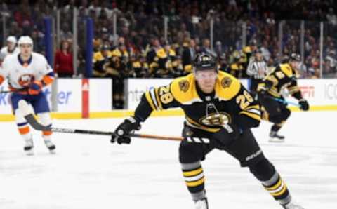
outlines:
[[[29,106],[25,100],[19,101],[19,109],[24,115],[25,119],[29,123],[32,128],[35,130],[42,130],[42,131],[52,131],[58,133],[81,133],[81,134],[90,134],[90,135],[110,135],[115,136],[116,133],[109,132],[109,131],[100,131],[100,130],[82,130],[82,129],[72,129],[72,128],[53,128],[48,126],[43,126],[37,119],[35,119],[34,115],[29,109]],[[187,140],[187,142],[193,143],[202,143],[202,144],[209,144],[209,139],[207,138],[199,138],[199,137],[177,137],[177,136],[164,136],[164,135],[150,135],[150,134],[138,134],[133,133],[129,135],[130,137],[136,138],[147,138],[147,139],[156,139],[156,140],[170,140],[170,141],[183,141]]]

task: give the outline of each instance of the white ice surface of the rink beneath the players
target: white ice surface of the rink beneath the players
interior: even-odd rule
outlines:
[[[267,142],[270,123],[254,129],[293,198],[305,209],[337,208],[337,112],[295,112]],[[113,130],[122,119],[54,120],[54,127]],[[141,133],[180,135],[182,117],[153,117]],[[15,123],[0,123],[1,209],[194,208],[178,163],[178,142],[134,139],[110,144],[97,135],[55,133],[54,155],[34,131],[34,156],[25,156]],[[281,208],[247,168],[224,151],[202,163],[211,209]]]

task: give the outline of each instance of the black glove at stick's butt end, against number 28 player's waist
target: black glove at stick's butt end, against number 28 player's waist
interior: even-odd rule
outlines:
[[[229,126],[229,127],[228,127]],[[230,146],[234,140],[239,138],[240,130],[237,126],[227,125],[227,128],[221,128],[218,132],[211,135],[211,144],[218,149],[225,149]]]

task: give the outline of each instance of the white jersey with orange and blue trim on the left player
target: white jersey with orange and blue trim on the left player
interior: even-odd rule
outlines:
[[[27,62],[19,54],[6,56],[0,69],[0,83],[8,79],[10,88],[27,88],[33,81],[44,81],[44,85],[53,82],[53,70],[46,58],[39,53],[32,53]]]

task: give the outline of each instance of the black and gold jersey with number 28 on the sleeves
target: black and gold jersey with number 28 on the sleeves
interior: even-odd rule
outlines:
[[[145,121],[153,110],[180,107],[188,126],[217,132],[230,124],[240,128],[260,123],[260,107],[239,80],[219,72],[213,93],[205,94],[197,86],[194,74],[174,79],[169,86],[148,90],[136,108],[135,117]]]

